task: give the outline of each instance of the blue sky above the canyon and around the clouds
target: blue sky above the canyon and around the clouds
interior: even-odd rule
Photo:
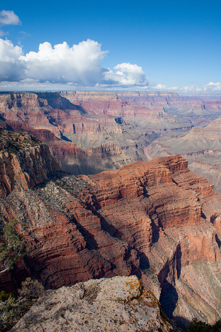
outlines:
[[[101,52],[108,51],[99,55],[96,53],[98,50],[94,50],[98,58],[95,59],[95,63],[91,63],[91,66],[104,68],[101,72],[99,68],[94,67],[92,71],[90,68],[82,69],[78,75],[74,73],[73,77],[66,75],[65,69],[64,73],[59,70],[57,77],[50,73],[48,77],[47,74],[39,76],[39,70],[47,71],[44,69],[44,66],[47,67],[45,62],[44,66],[36,67],[36,72],[23,68],[26,73],[17,77],[4,72],[1,78],[4,83],[0,83],[1,90],[8,87],[22,89],[22,86],[28,89],[28,84],[31,87],[42,86],[43,89],[45,84],[48,84],[48,87],[54,85],[56,88],[60,86],[65,89],[68,83],[69,90],[88,87],[92,89],[94,86],[103,90],[113,89],[116,86],[132,90],[141,88],[182,92],[221,92],[220,1],[65,1],[62,3],[9,0],[3,4],[1,10],[13,11],[21,21],[21,24],[2,23],[0,29],[3,32],[2,40],[7,39],[13,43],[13,46],[22,47],[23,55],[30,51],[38,52],[39,44],[43,42],[49,42],[53,47],[66,41],[72,47],[73,44],[77,45],[87,39],[101,44]],[[94,46],[91,45],[92,48]],[[7,55],[4,57],[2,52],[0,50],[0,71]],[[5,52],[7,53],[7,50]],[[93,53],[93,50],[88,47],[88,53],[90,52]],[[26,66],[36,65],[33,59],[21,61],[23,64],[20,63],[19,69],[13,70],[21,72],[24,61]],[[42,61],[42,58],[39,61]],[[62,61],[67,63],[65,56]],[[76,61],[75,58],[73,61]],[[142,67],[142,72],[137,67],[129,68],[128,65],[114,69],[118,64],[124,63],[136,64]],[[81,67],[81,63],[77,63],[76,66]],[[111,72],[105,74],[108,68]],[[126,70],[131,70],[129,76]],[[70,64],[69,71],[76,71],[76,67],[73,65],[72,68]],[[82,77],[87,76],[85,80],[79,78],[80,74]],[[68,76],[66,79],[68,82],[58,76]],[[95,79],[90,80],[89,77],[92,76]],[[212,84],[208,85],[209,82]]]

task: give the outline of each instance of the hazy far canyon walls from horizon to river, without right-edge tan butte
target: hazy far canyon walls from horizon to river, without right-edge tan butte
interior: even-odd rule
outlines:
[[[220,114],[220,101],[214,96],[204,100],[177,93],[122,91],[0,94],[0,121],[49,144],[61,168],[72,174],[147,160],[143,149],[163,133],[205,126]],[[72,143],[71,149],[66,143]],[[96,150],[94,168],[91,148]]]

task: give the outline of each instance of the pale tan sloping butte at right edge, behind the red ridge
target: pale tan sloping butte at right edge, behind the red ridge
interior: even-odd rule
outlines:
[[[221,193],[221,118],[204,128],[194,127],[183,137],[162,136],[145,148],[145,153],[150,158],[175,154],[183,156],[192,172],[206,177]]]

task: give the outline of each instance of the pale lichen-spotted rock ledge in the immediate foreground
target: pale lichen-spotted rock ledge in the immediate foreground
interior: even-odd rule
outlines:
[[[47,290],[11,329],[23,331],[161,331],[173,327],[136,276],[89,280]]]

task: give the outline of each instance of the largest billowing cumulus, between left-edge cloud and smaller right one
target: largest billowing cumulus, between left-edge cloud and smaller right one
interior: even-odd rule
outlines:
[[[101,50],[101,44],[89,39],[72,47],[65,41],[54,47],[44,42],[38,52],[29,52],[20,60],[26,65],[27,78],[90,85],[102,79],[105,69],[99,63],[106,53]]]

